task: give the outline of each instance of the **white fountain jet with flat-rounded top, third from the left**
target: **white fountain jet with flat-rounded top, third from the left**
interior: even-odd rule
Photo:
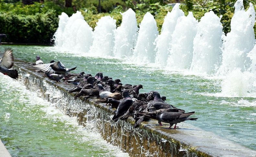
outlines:
[[[110,16],[101,17],[94,28],[94,40],[89,54],[92,56],[113,56],[116,20]]]

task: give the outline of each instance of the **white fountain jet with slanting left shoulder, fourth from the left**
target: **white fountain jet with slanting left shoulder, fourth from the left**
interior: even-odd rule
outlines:
[[[115,57],[125,58],[133,54],[138,29],[135,12],[130,8],[122,13],[122,24],[115,33]]]

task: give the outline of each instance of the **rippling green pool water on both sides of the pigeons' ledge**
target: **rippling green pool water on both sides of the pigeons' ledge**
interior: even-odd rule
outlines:
[[[94,75],[100,71],[114,79],[120,78],[123,84],[142,84],[144,89],[140,92],[157,90],[160,95],[167,97],[168,103],[187,112],[196,112],[193,117],[198,120],[187,123],[256,150],[256,98],[217,97],[216,94],[221,92],[222,81],[218,77],[166,71],[152,65],[135,65],[119,59],[85,57],[60,52],[49,46],[3,45],[0,50],[7,47],[14,50],[16,58],[25,61],[35,62],[35,56],[40,55],[44,62],[60,60],[68,68],[77,66],[75,73],[84,71]],[[0,102],[0,138],[11,154],[24,153],[24,156],[29,156],[42,150],[48,156],[58,153],[60,156],[67,153],[70,156],[86,153],[87,156],[122,154],[116,148],[107,149],[110,147],[104,141],[96,140],[99,137],[86,137],[96,142],[84,140],[86,134],[78,131],[83,128],[73,123],[71,125],[72,118],[63,118],[65,116],[62,113],[52,114],[51,109],[45,109],[51,104],[44,100],[41,100],[45,103],[43,106],[30,101],[29,94],[13,89],[16,81],[8,82],[3,75],[0,80],[0,97],[6,99]]]

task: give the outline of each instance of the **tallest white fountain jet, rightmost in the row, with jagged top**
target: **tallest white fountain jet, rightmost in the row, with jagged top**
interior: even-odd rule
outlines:
[[[254,26],[255,10],[250,3],[247,11],[244,10],[243,1],[235,3],[235,14],[231,19],[231,31],[224,37],[223,61],[219,74],[225,75],[228,71],[240,68],[245,71],[251,62],[247,53],[252,50],[255,43]]]

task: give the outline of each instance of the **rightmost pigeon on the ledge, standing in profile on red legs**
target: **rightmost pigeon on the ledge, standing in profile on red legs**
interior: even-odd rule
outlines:
[[[168,108],[169,109],[169,108]],[[174,108],[175,109],[175,108]],[[177,110],[177,109],[175,109]],[[169,112],[166,111],[154,111],[154,112],[147,112],[147,113],[140,113],[141,115],[144,115],[146,117],[150,117],[152,119],[157,119],[160,126],[162,126],[161,122],[169,123],[169,128],[165,129],[171,129],[173,124],[175,124],[173,129],[177,128],[177,123],[183,122],[185,120],[196,120],[198,118],[189,118],[189,116],[193,115],[195,112],[189,112],[189,113],[182,113],[182,112],[172,112],[169,109]]]

